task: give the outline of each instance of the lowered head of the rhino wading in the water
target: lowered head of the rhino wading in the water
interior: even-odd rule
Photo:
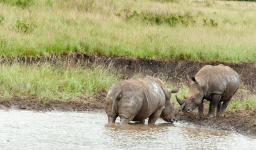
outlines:
[[[172,97],[172,93],[177,93],[180,88],[168,89],[165,92],[165,108],[163,109],[160,118],[164,121],[174,123],[176,120],[175,116],[182,111],[185,104],[180,106],[179,108],[174,107],[174,103],[171,103],[170,99]]]

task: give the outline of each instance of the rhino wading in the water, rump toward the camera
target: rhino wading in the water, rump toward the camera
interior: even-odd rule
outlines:
[[[108,123],[115,123],[118,116],[120,124],[130,121],[145,123],[146,118],[149,118],[148,124],[155,124],[159,117],[173,123],[175,115],[184,106],[174,108],[174,103],[170,101],[171,94],[177,93],[179,89],[168,89],[160,79],[153,77],[115,83],[105,101]]]

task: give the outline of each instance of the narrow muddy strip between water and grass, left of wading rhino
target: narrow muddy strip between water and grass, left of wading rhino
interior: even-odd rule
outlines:
[[[39,100],[36,97],[0,99],[0,108],[36,111],[95,111],[105,108],[106,94],[106,91],[100,91],[95,97],[78,98],[77,101]]]

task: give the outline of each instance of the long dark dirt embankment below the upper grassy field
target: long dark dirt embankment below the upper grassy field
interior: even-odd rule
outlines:
[[[241,82],[244,86],[248,86],[250,91],[256,90],[256,63],[225,63],[219,61],[184,61],[170,59],[168,61],[162,59],[146,59],[146,58],[129,58],[120,56],[90,55],[90,54],[62,54],[41,58],[6,58],[1,57],[0,63],[4,62],[23,62],[28,64],[38,63],[54,63],[54,64],[76,64],[76,63],[103,63],[110,65],[113,69],[121,70],[123,76],[133,76],[135,73],[141,73],[148,76],[166,76],[171,78],[173,82],[179,83],[185,81],[186,74],[195,76],[197,71],[203,66],[210,64],[216,66],[224,64],[237,71],[240,75]]]

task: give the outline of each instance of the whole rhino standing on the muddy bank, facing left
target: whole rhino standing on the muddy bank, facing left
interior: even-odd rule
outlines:
[[[185,103],[185,111],[192,112],[198,108],[197,118],[203,118],[203,99],[210,101],[208,117],[225,116],[225,109],[238,89],[240,79],[238,73],[228,66],[203,66],[195,77],[186,76],[189,83],[188,94],[184,99],[176,99],[180,105]]]

